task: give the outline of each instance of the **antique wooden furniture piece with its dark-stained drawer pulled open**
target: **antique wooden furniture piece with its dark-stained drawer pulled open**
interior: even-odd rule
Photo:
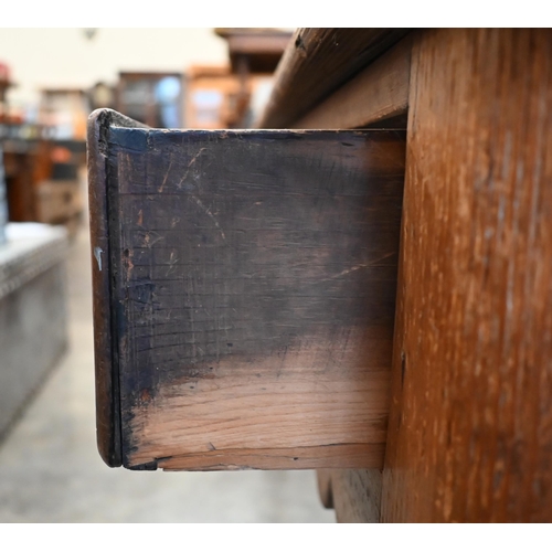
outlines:
[[[551,521],[551,51],[299,29],[258,131],[96,112],[104,459],[317,468],[339,521]]]

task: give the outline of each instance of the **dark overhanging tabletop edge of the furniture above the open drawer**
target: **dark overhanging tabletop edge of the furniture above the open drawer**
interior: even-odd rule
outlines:
[[[404,38],[408,29],[298,29],[275,74],[261,128],[296,127],[305,114]],[[320,127],[323,128],[323,127]]]

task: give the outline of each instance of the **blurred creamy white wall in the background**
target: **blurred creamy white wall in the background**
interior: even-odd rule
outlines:
[[[202,63],[225,63],[226,41],[213,29],[0,29],[0,62],[18,83],[10,104],[38,102],[42,87],[87,88],[113,83],[119,71],[178,71]]]

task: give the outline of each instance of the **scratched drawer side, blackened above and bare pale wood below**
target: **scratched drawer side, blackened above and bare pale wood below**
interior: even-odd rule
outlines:
[[[381,467],[404,134],[99,135],[123,464]]]

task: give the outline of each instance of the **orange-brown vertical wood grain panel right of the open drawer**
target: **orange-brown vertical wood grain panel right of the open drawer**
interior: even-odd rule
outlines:
[[[413,50],[382,520],[552,521],[552,33]]]

